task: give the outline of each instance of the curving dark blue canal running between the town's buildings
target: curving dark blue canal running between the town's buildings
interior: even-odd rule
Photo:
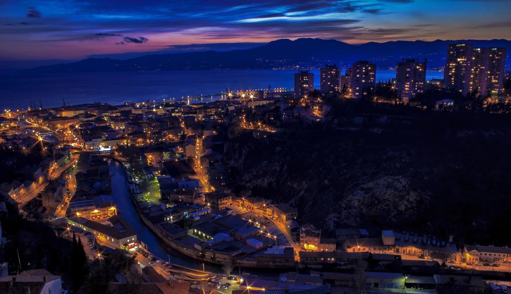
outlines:
[[[202,269],[201,261],[173,251],[144,224],[135,210],[135,205],[130,199],[128,179],[126,178],[124,166],[115,160],[109,160],[109,170],[112,200],[117,206],[119,214],[124,217],[128,224],[136,231],[138,240],[146,244],[147,250],[160,259],[168,260],[168,258],[170,258],[171,263]],[[210,272],[221,272],[220,266],[216,264],[205,263],[205,269]]]

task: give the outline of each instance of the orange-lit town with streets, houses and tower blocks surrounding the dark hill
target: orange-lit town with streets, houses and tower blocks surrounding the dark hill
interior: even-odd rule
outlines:
[[[397,62],[396,79],[376,82],[376,64],[358,61],[344,74],[335,65],[321,68],[319,89],[318,77],[298,70],[294,89],[6,109],[0,117],[7,162],[2,227],[12,213],[45,224],[83,246],[100,269],[102,261],[130,258],[132,268],[106,281],[110,290],[126,284],[135,268],[137,286],[158,293],[506,292],[511,248],[504,244],[466,243],[454,232],[422,228],[318,227],[303,221],[294,201],[237,188],[225,158],[233,138],[265,142],[291,127],[338,124],[340,100],[508,113],[505,56],[505,48],[453,44],[444,80],[426,81],[427,61],[406,59]],[[480,104],[458,103],[471,95]],[[362,113],[342,119],[344,129],[370,123],[378,133],[408,118]],[[80,292],[83,280],[66,282],[27,264],[12,228],[0,237],[0,292]]]

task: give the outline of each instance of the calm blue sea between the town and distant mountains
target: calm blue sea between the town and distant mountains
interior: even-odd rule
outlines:
[[[319,70],[314,85],[319,87]],[[294,69],[171,70],[85,72],[19,75],[0,73],[0,110],[57,107],[102,102],[178,99],[248,89],[292,88]],[[428,71],[426,80],[442,79],[441,71]],[[378,70],[377,81],[395,78],[393,70]]]

